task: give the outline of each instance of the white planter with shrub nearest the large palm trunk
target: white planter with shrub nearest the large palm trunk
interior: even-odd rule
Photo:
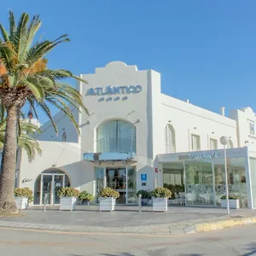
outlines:
[[[28,188],[15,188],[15,203],[19,210],[24,210],[33,200],[33,192]]]

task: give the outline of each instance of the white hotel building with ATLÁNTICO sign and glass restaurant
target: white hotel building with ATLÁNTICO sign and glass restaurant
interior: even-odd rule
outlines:
[[[120,61],[81,75],[79,84],[90,115],[73,110],[80,136],[63,113],[37,139],[42,156],[29,163],[21,152],[17,185],[34,192],[34,205],[58,204],[56,191],[71,186],[96,195],[105,186],[119,191],[117,203],[137,202],[137,190],[183,183],[186,205],[220,206],[224,195],[227,136],[230,193],[241,207],[256,207],[256,134],[252,108],[212,113],[161,93],[160,73]]]

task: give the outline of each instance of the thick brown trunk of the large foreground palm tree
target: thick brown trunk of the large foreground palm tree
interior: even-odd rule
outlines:
[[[17,148],[17,107],[7,109],[2,171],[0,173],[0,211],[16,212],[15,169]]]

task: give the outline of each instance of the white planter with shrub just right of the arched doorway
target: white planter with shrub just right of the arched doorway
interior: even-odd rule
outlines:
[[[60,211],[73,211],[76,206],[79,190],[70,187],[59,189],[58,195],[61,197]]]

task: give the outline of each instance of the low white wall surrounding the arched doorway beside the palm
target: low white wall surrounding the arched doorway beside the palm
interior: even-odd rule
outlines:
[[[80,148],[78,143],[39,142],[43,150],[42,156],[38,156],[29,163],[26,152],[22,152],[20,163],[19,186],[29,187],[34,190],[34,182],[41,172],[59,169],[66,172],[71,181],[71,186],[84,189],[85,183],[92,180],[91,166],[84,160],[80,160]],[[32,181],[22,183],[28,178]]]

